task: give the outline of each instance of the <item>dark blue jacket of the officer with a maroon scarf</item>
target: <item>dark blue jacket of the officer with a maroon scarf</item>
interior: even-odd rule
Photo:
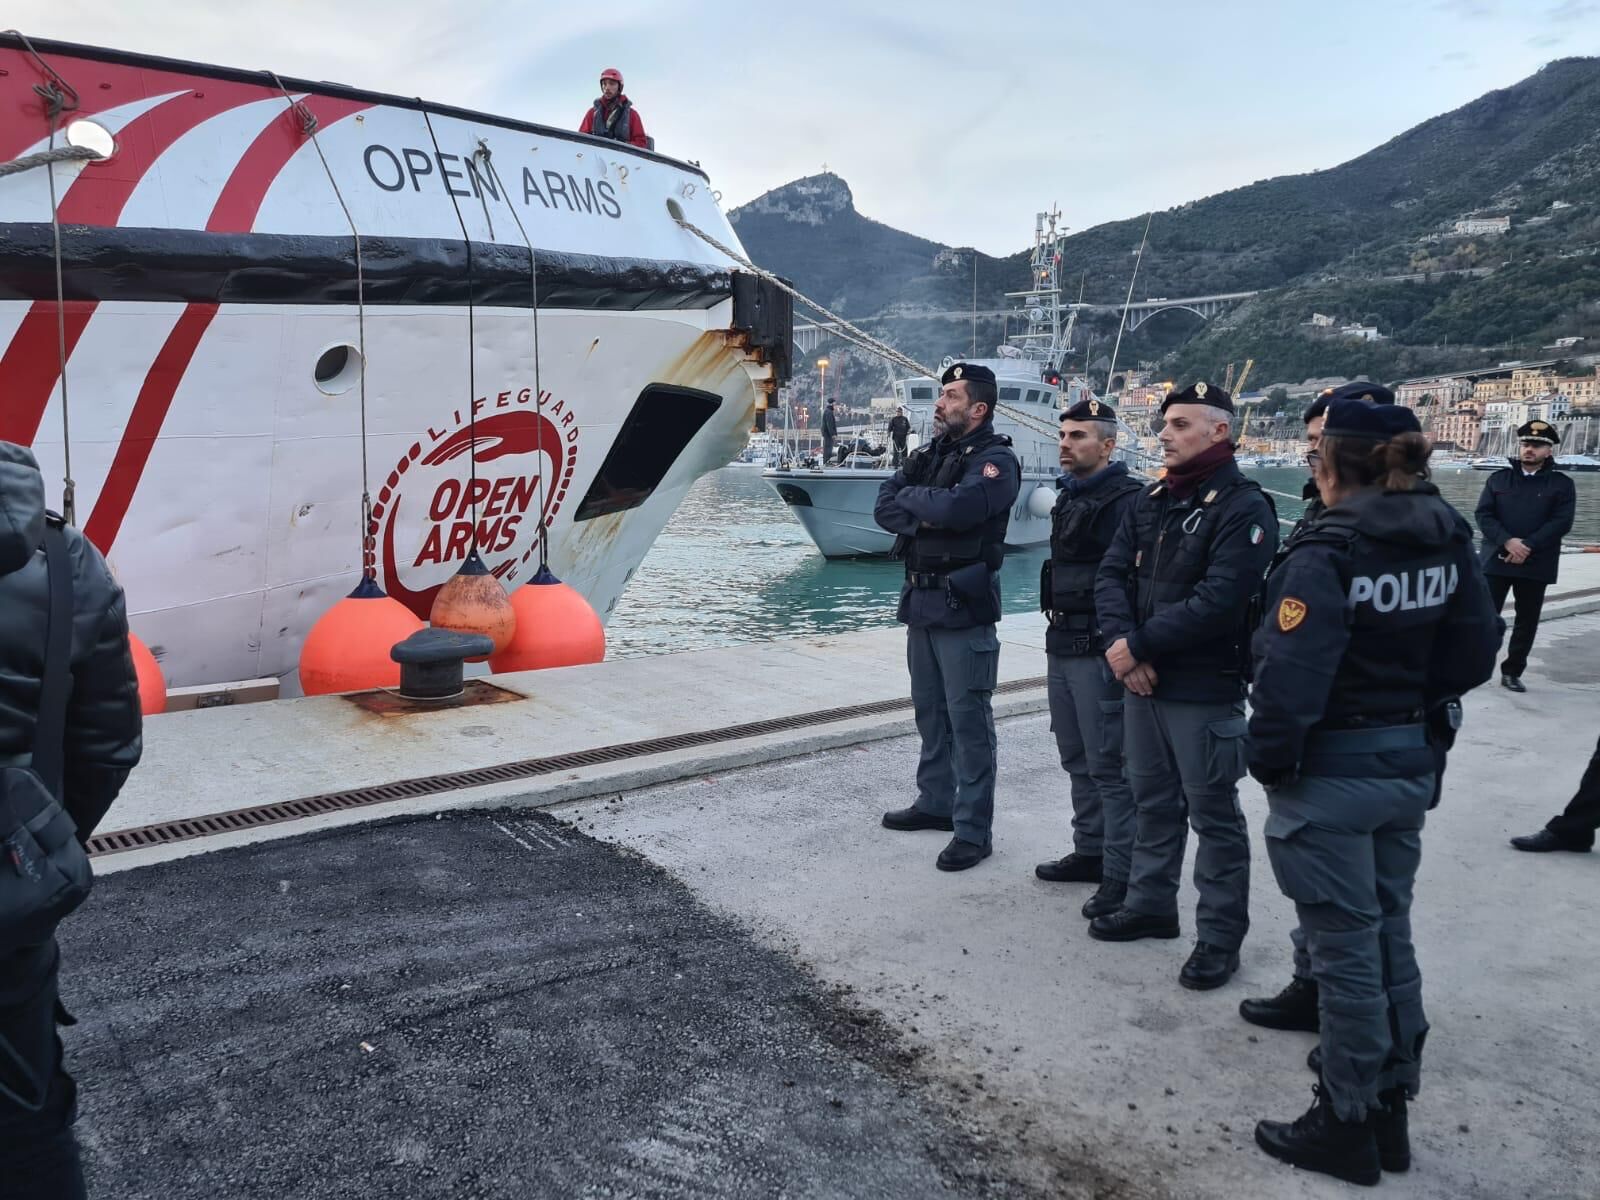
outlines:
[[[1277,544],[1272,504],[1232,461],[1187,499],[1146,488],[1094,576],[1106,645],[1126,637],[1155,667],[1157,699],[1243,699],[1250,608]]]

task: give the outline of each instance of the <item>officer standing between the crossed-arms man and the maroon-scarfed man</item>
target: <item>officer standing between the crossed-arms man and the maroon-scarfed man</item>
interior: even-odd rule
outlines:
[[[1106,664],[1094,619],[1094,573],[1147,480],[1112,462],[1117,413],[1080,400],[1061,414],[1059,494],[1038,603],[1050,680],[1050,728],[1072,781],[1072,853],[1034,867],[1051,883],[1099,883],[1085,917],[1115,912],[1128,893],[1133,792],[1122,770],[1122,685]]]

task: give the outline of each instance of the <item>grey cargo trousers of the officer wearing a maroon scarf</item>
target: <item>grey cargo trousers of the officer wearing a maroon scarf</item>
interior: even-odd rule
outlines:
[[[1133,786],[1134,835],[1123,907],[1178,914],[1184,846],[1194,826],[1198,941],[1237,950],[1250,928],[1250,829],[1238,806],[1245,774],[1243,702],[1123,702],[1123,757]]]

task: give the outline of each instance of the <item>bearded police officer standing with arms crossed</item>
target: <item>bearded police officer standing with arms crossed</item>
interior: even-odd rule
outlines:
[[[1022,469],[995,434],[994,371],[955,363],[941,382],[933,442],[883,482],[874,509],[906,560],[899,619],[922,734],[917,800],[883,824],[952,832],[938,867],[966,870],[990,851],[1000,563]]]

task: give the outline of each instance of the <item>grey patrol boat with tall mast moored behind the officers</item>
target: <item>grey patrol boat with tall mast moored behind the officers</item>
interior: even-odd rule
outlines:
[[[1061,243],[1066,229],[1058,230],[1059,213],[1040,213],[1034,226],[1032,286],[1006,293],[1019,302],[1022,333],[995,347],[994,358],[973,358],[995,373],[998,405],[995,432],[1011,438],[1011,448],[1022,464],[1022,486],[1006,546],[1043,546],[1050,541],[1050,512],[1056,502],[1056,477],[1061,474],[1059,419],[1064,406],[1091,395],[1088,382],[1069,378],[1066,358],[1072,349],[1072,326],[1077,307],[1061,301]],[[941,366],[955,358],[947,357]],[[904,405],[912,422],[910,445],[933,438],[933,405],[939,381],[914,376],[894,384],[894,400]],[[1139,440],[1133,429],[1117,419],[1118,451],[1130,466],[1138,459]],[[888,435],[875,438],[888,442]],[[789,466],[762,472],[773,490],[789,506],[802,528],[827,558],[872,558],[888,555],[894,534],[872,518],[878,486],[893,475],[888,456],[853,454],[845,466]]]

